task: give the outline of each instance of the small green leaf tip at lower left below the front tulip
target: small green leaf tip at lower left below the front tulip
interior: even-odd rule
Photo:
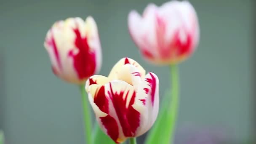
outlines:
[[[98,123],[95,123],[93,140],[93,144],[115,144],[115,142],[101,130]]]

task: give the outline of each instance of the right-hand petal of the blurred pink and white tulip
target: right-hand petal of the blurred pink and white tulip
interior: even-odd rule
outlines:
[[[195,50],[198,43],[199,26],[195,9],[187,1],[170,1],[163,4],[159,13],[167,26],[165,34],[159,34],[165,41],[162,59],[171,63],[182,61]]]

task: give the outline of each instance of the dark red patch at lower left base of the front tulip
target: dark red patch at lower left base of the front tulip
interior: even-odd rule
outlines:
[[[107,135],[118,144],[118,126],[116,120],[110,115],[107,115],[106,117],[100,117],[100,120],[104,127],[107,129]]]

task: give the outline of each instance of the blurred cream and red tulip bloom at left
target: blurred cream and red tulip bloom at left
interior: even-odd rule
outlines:
[[[69,83],[83,84],[101,67],[98,29],[91,16],[55,22],[44,45],[53,73]]]

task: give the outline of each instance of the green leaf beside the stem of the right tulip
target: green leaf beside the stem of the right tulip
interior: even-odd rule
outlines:
[[[170,91],[166,91],[162,101],[161,101],[161,107],[160,107],[160,111],[159,114],[157,116],[157,120],[155,121],[155,124],[153,125],[153,127],[151,128],[151,130],[149,131],[149,133],[147,134],[147,138],[144,142],[144,144],[159,144],[161,142],[161,144],[167,144],[163,141],[163,136],[165,136],[164,134],[166,133],[166,123],[168,123],[168,120],[166,119],[166,115],[168,113],[168,105],[170,104]],[[169,136],[168,136],[169,137]]]

